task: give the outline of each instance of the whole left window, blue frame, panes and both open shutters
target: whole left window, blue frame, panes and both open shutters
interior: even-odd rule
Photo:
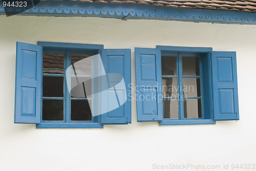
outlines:
[[[100,104],[103,104],[103,97],[92,92],[87,95],[83,81],[84,95],[81,97],[74,95],[80,89],[69,91],[68,87],[72,87],[72,82],[78,79],[93,80],[92,77],[97,76],[96,73],[102,72],[99,71],[102,69],[97,67],[99,62],[96,61],[89,61],[89,64],[82,68],[83,74],[76,72],[74,67],[76,61],[97,54],[101,55],[104,67],[102,68],[108,80],[110,73],[122,76],[125,88],[116,86],[115,91],[121,92],[122,96],[117,93],[118,96],[115,97],[117,101],[121,100],[120,97],[126,97],[127,100],[119,102],[119,106],[114,110],[92,116],[93,111],[102,110]],[[113,69],[113,66],[117,65],[118,67]],[[69,72],[71,67],[74,70]],[[103,49],[103,45],[56,42],[38,42],[38,45],[17,42],[14,122],[36,123],[38,128],[100,128],[103,124],[131,123],[131,97],[127,95],[131,91],[130,83],[130,49]],[[113,89],[109,83],[108,85],[107,92]],[[102,84],[91,81],[91,87],[92,91],[101,90]],[[111,93],[107,93],[104,98],[110,98],[110,95]],[[98,98],[95,98],[96,96]],[[92,112],[89,106],[92,106]]]

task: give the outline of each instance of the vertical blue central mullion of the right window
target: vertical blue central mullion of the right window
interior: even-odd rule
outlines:
[[[178,54],[177,57],[177,75],[178,75],[178,106],[179,106],[179,119],[183,120],[183,81],[182,81],[182,56]]]

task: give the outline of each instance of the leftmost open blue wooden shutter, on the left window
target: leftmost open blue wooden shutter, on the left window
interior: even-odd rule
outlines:
[[[41,113],[42,47],[17,42],[15,123],[39,123]]]

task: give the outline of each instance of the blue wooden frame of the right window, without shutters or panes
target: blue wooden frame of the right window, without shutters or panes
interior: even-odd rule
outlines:
[[[212,48],[193,48],[193,47],[169,47],[157,46],[161,49],[161,54],[164,56],[177,57],[177,83],[178,89],[178,109],[179,119],[163,119],[159,125],[169,124],[212,124],[215,123],[211,112],[211,74],[210,74],[210,59],[209,54]],[[162,55],[161,55],[162,56]],[[182,74],[182,56],[185,57],[199,57],[200,76],[183,76]],[[169,77],[169,76],[163,76]],[[200,78],[201,97],[187,97],[186,99],[202,99],[202,118],[184,118],[184,104],[183,104],[183,78]],[[166,97],[163,97],[167,99]]]

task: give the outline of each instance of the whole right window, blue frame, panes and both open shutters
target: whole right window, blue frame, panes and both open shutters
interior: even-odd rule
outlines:
[[[138,121],[174,125],[239,119],[235,52],[157,46],[136,48],[135,61]]]

